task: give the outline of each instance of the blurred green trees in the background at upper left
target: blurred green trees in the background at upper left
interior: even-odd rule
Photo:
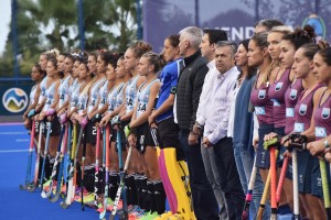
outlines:
[[[18,35],[22,75],[31,72],[40,53],[56,47],[71,52],[79,46],[77,0],[18,0]],[[84,0],[85,50],[124,51],[136,37],[132,0]],[[0,76],[13,76],[11,33],[0,57]]]

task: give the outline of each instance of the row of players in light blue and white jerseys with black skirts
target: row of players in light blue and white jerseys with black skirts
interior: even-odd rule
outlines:
[[[174,50],[178,42],[177,35],[164,41],[166,62],[179,57],[178,50]],[[34,180],[30,185],[26,180],[26,188],[34,190],[40,186],[42,197],[55,201],[64,174],[63,186],[67,185],[67,189],[63,191],[66,195],[63,207],[73,201],[72,194],[76,190],[81,193],[78,198],[84,196],[82,202],[105,212],[105,206],[111,205],[117,196],[126,150],[135,146],[129,147],[130,165],[126,168],[127,204],[132,205],[136,215],[151,212],[157,217],[163,213],[166,194],[148,123],[161,87],[157,73],[163,64],[163,59],[145,42],[132,44],[125,54],[107,51],[88,55],[58,54],[56,50],[41,54],[39,64],[32,68],[35,86],[23,116],[40,155]],[[66,161],[72,161],[70,173]],[[102,172],[102,167],[106,172]],[[51,180],[50,186],[42,184],[45,179]],[[56,191],[52,193],[55,186]],[[75,186],[81,188],[77,190]],[[100,196],[103,194],[105,196]]]

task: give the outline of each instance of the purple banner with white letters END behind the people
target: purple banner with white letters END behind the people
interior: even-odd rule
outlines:
[[[331,40],[329,0],[143,0],[143,40],[161,52],[164,38],[185,26],[222,29],[231,41],[254,34],[256,21],[278,19],[293,29],[314,26],[321,37]]]

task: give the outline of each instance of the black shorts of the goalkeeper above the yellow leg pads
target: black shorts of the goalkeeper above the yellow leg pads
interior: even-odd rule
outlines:
[[[177,160],[183,161],[185,160],[185,154],[181,147],[179,141],[179,128],[173,121],[173,117],[169,119],[164,119],[158,124],[158,140],[160,144],[160,148],[174,147]]]

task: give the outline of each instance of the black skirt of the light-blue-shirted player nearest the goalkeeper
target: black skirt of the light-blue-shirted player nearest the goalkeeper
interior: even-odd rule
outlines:
[[[156,146],[148,122],[137,128],[137,150],[143,154],[147,146]]]

